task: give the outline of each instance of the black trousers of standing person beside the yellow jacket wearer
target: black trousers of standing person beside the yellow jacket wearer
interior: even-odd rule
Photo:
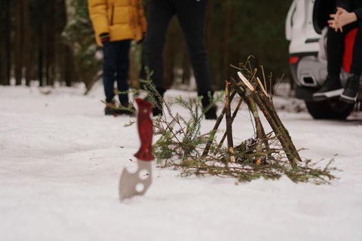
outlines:
[[[204,42],[207,3],[207,0],[150,0],[146,58],[157,88],[163,89],[165,34],[170,19],[176,15],[185,36],[199,95],[212,91]]]

